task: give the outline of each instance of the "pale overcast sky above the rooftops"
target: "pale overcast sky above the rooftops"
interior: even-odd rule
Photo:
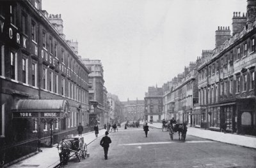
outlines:
[[[144,99],[215,46],[218,26],[230,26],[246,0],[42,0],[63,18],[79,55],[99,59],[108,92],[120,101]]]

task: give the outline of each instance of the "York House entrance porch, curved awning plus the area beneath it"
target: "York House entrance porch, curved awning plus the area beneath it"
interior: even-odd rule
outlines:
[[[69,118],[69,106],[66,100],[19,100],[12,109],[15,130],[26,129],[37,134],[41,143],[52,146],[53,128],[65,130]],[[19,123],[27,121],[27,127]]]

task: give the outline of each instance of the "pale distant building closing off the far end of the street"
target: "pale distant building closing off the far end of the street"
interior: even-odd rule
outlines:
[[[143,120],[144,119],[144,100],[122,102],[124,110],[124,118],[129,121]]]

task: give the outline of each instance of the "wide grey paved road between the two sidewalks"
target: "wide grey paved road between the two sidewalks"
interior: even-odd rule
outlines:
[[[109,159],[104,160],[101,138],[88,150],[90,158],[71,159],[66,167],[256,167],[256,150],[188,136],[185,143],[177,135],[171,141],[167,132],[150,129],[120,130],[112,139]]]

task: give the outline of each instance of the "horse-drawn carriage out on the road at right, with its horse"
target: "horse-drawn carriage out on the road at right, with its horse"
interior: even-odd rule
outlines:
[[[188,130],[188,127],[187,127],[186,123],[173,124],[173,127],[171,126],[169,129],[170,138],[173,140],[174,133],[178,132],[179,140],[180,140],[180,133],[181,133],[181,140],[185,141],[187,130]]]

